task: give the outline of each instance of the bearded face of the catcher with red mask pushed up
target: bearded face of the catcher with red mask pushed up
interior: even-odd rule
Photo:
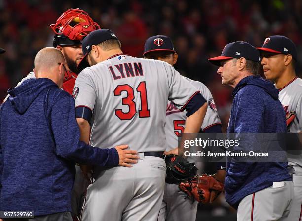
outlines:
[[[83,58],[82,45],[71,45],[62,47],[62,53],[66,60],[67,68],[73,72],[78,74],[77,65],[80,60]]]

